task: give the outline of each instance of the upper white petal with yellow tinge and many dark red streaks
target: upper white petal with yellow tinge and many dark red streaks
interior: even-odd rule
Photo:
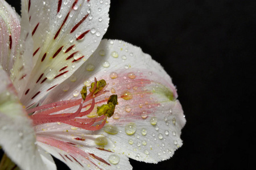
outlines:
[[[96,50],[109,23],[109,1],[24,1],[34,40],[29,106],[69,78]],[[24,3],[23,2],[23,3]]]

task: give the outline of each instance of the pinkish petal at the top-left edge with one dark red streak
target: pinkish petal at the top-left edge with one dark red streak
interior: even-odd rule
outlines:
[[[20,36],[19,16],[13,8],[0,0],[0,63],[10,75]]]

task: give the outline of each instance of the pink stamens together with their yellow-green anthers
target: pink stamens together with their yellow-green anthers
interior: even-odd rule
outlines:
[[[106,118],[113,115],[115,105],[118,104],[117,95],[110,96],[107,104],[97,107],[97,117],[84,118],[84,116],[93,111],[95,107],[95,98],[108,92],[108,90],[105,90],[106,86],[107,84],[105,80],[97,81],[95,78],[89,89],[89,95],[87,95],[87,90],[84,86],[81,90],[81,99],[57,101],[56,103],[28,109],[27,113],[30,114],[34,112],[30,116],[34,125],[61,122],[86,130],[99,130],[105,125]],[[92,103],[90,104],[89,109],[85,110],[90,100],[92,100]],[[75,107],[77,108],[77,111],[74,113],[57,113]],[[93,126],[94,124],[97,125]]]

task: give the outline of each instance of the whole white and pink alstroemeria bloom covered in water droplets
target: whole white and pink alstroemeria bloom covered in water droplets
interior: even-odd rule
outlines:
[[[0,0],[0,145],[20,168],[56,169],[53,155],[71,169],[131,169],[128,158],[158,163],[182,145],[170,76],[137,46],[101,41],[109,5],[23,0],[19,22]],[[114,94],[113,115],[98,114]]]

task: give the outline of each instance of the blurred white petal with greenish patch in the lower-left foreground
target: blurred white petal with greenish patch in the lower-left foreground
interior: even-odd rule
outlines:
[[[19,103],[15,88],[0,65],[0,145],[22,169],[47,169],[35,146],[31,120]]]

